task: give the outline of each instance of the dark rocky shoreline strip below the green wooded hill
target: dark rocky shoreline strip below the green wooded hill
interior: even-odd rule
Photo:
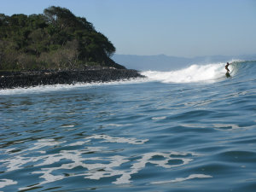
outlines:
[[[87,68],[64,71],[19,71],[0,72],[0,89],[30,87],[47,84],[75,84],[119,81],[122,79],[143,78],[133,69]]]

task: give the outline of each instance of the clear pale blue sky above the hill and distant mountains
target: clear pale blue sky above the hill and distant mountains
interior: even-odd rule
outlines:
[[[93,23],[125,55],[256,54],[256,0],[0,0],[0,13],[51,5]]]

